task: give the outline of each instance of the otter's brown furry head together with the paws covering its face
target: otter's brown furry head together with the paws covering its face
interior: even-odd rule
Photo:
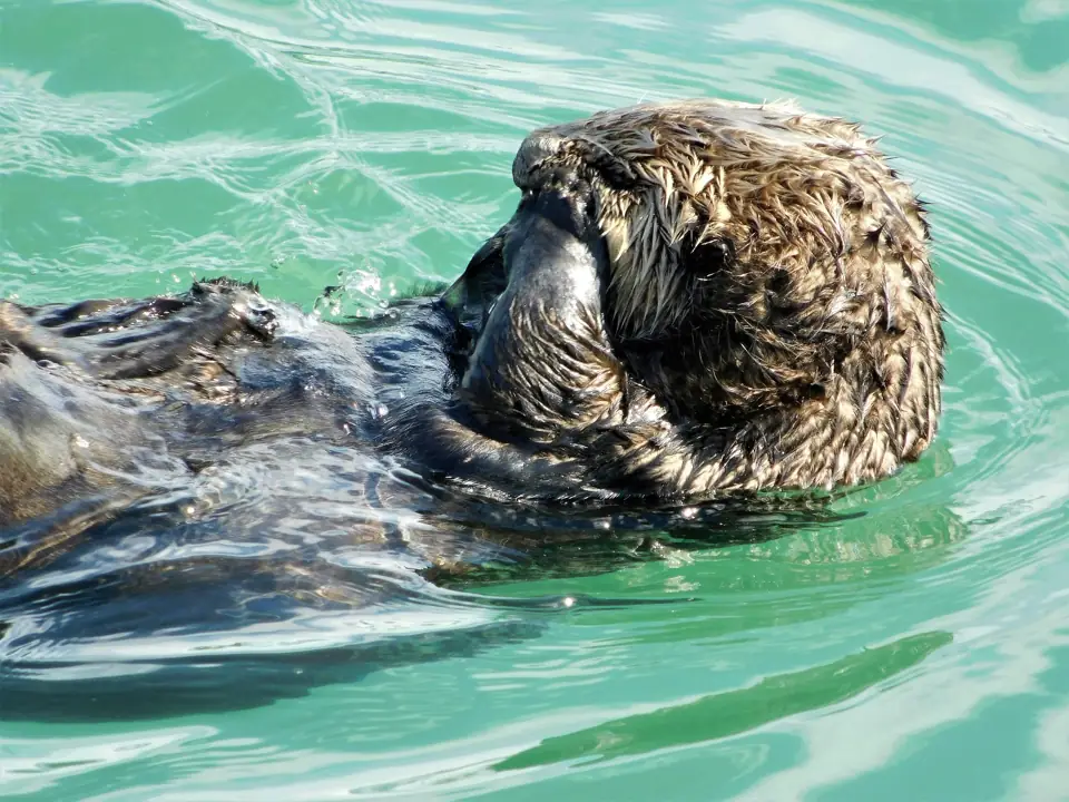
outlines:
[[[659,495],[854,483],[931,442],[928,225],[856,126],[638,106],[534,131],[513,179],[516,216],[450,294],[490,426]]]

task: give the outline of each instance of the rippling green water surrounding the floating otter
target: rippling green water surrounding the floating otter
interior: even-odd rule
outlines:
[[[950,340],[939,441],[863,517],[494,586],[678,603],[242,712],[0,698],[0,796],[1069,799],[1067,56],[1059,0],[0,0],[0,296],[365,312],[459,273],[532,127],[790,96],[916,177]]]

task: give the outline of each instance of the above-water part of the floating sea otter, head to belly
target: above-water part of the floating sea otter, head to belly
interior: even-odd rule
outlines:
[[[536,130],[512,177],[452,286],[356,330],[229,280],[0,303],[0,525],[66,540],[272,443],[491,501],[645,505],[872,481],[932,442],[924,208],[856,125],[641,105]]]

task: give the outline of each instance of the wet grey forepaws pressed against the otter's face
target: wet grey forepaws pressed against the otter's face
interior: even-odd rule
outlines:
[[[526,194],[475,255],[448,297],[475,336],[460,397],[481,429],[550,442],[618,414],[624,372],[602,315],[608,266],[582,188]]]

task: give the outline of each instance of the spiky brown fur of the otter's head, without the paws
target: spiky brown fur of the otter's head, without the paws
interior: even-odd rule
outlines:
[[[513,165],[526,190],[562,172],[595,187],[606,325],[637,379],[631,414],[594,442],[609,483],[830,488],[931,443],[944,340],[928,224],[857,126],[637,106],[534,131]]]

